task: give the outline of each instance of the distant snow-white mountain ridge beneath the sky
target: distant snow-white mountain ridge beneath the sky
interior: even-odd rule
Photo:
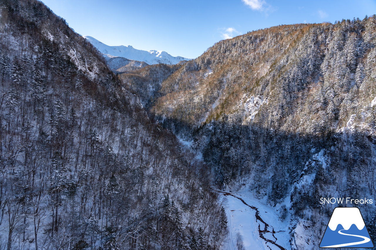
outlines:
[[[157,51],[157,50],[137,50],[133,48],[131,45],[124,46],[109,46],[104,44],[103,42],[98,41],[97,39],[91,36],[83,36],[92,45],[94,45],[101,53],[105,55],[111,56],[119,56],[125,57],[130,60],[136,60],[140,62],[146,62],[147,64],[158,64],[158,63],[166,63],[166,64],[176,64],[180,61],[186,60],[189,61],[191,59],[181,57],[181,56],[171,56],[166,51]]]

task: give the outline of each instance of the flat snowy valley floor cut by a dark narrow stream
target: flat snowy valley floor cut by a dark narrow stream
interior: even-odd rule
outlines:
[[[279,213],[268,205],[262,204],[263,202],[253,198],[252,193],[246,190],[240,190],[238,193],[231,193],[244,200],[248,205],[255,206],[259,211],[259,216],[265,223],[269,225],[268,231],[275,231],[273,233],[264,233],[266,239],[275,241],[276,244],[280,245],[285,249],[291,249],[289,243],[289,233],[288,233],[288,219],[285,221],[280,221]],[[247,250],[255,249],[281,249],[273,243],[265,242],[264,239],[260,238],[259,235],[259,225],[261,230],[264,229],[264,223],[256,220],[256,210],[250,208],[244,204],[240,199],[233,196],[223,196],[227,199],[225,202],[225,209],[227,213],[228,228],[229,228],[229,242],[227,243],[226,250],[238,250],[237,245],[237,233],[239,232],[243,236],[243,245]]]

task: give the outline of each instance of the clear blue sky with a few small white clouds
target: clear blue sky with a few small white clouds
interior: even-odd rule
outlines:
[[[222,39],[279,24],[363,19],[376,0],[42,0],[77,33],[107,45],[195,58]]]

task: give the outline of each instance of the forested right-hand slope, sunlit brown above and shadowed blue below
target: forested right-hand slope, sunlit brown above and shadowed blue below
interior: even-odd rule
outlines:
[[[375,45],[375,16],[249,32],[173,72],[150,112],[218,188],[287,209],[291,247],[316,249],[335,206],[320,197],[376,199]],[[374,206],[359,208],[374,238]]]

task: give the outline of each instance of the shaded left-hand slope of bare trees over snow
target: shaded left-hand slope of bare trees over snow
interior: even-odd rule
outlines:
[[[0,249],[219,249],[209,171],[62,18],[0,0]]]

